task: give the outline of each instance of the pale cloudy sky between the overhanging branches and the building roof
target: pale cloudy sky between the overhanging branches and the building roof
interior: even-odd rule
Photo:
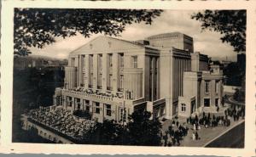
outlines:
[[[215,31],[201,31],[201,23],[191,19],[191,14],[197,10],[165,10],[159,17],[153,20],[151,25],[144,23],[127,25],[125,31],[119,34],[118,38],[137,41],[147,36],[160,33],[179,31],[194,38],[194,51],[207,54],[212,59],[228,59],[236,61],[236,52],[228,43],[220,40],[221,35]],[[32,54],[48,56],[57,59],[67,59],[68,54],[90,42],[96,36],[84,38],[82,35],[63,38],[56,38],[56,42],[45,46],[45,48],[31,48]]]

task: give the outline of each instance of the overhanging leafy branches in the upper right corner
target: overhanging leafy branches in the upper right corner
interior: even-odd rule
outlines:
[[[191,16],[201,21],[201,29],[218,31],[222,42],[228,42],[234,51],[246,51],[246,10],[205,10]]]

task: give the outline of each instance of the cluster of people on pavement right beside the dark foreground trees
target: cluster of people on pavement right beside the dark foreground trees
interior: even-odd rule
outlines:
[[[179,146],[180,140],[188,135],[189,128],[185,124],[180,124],[179,121],[172,121],[172,125],[168,127],[165,134],[161,135],[164,146]]]

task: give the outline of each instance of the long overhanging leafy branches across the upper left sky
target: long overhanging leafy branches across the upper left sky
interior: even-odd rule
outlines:
[[[118,36],[125,25],[145,22],[150,25],[161,10],[145,9],[84,9],[84,8],[15,8],[15,54],[28,55],[29,48],[44,48],[78,33],[89,37],[93,33]]]

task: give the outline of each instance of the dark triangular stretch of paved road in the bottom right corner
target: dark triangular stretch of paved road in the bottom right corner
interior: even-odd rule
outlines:
[[[210,148],[244,148],[244,125],[242,122],[240,125],[232,128],[229,132],[224,133],[221,137],[209,143],[206,147]]]

